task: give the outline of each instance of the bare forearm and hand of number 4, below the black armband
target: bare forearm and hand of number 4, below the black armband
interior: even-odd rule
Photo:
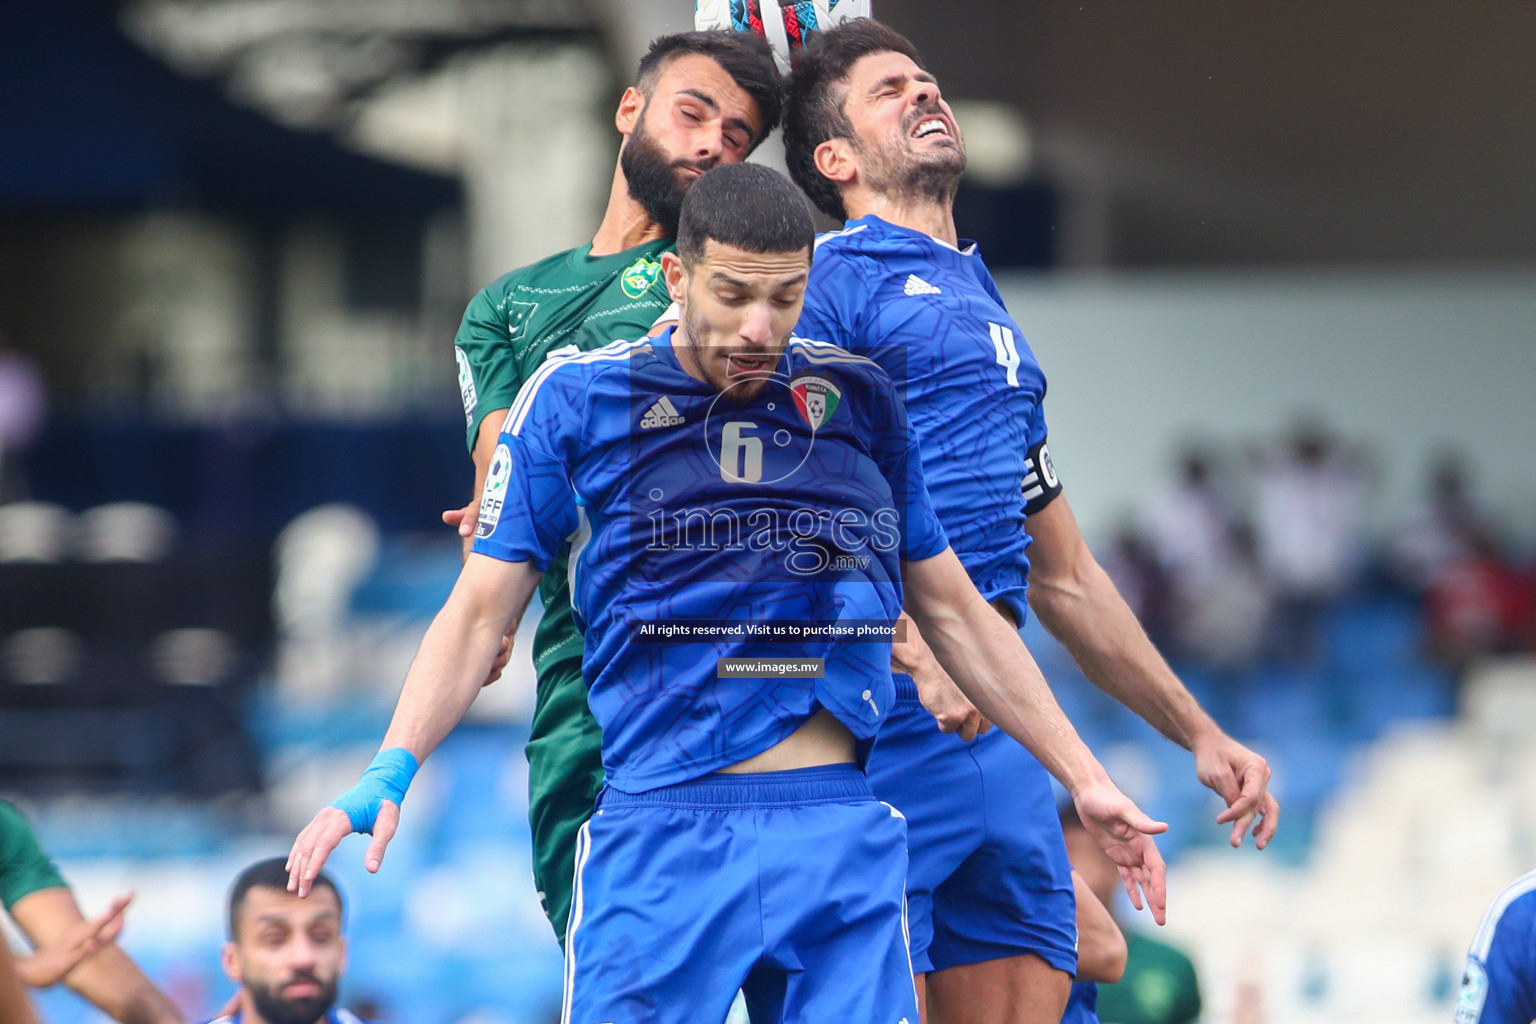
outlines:
[[[1114,580],[1094,559],[1066,496],[1026,524],[1029,608],[1106,694],[1195,754],[1195,774],[1227,803],[1217,821],[1232,823],[1232,846],[1253,827],[1260,849],[1279,827],[1269,792],[1269,763],[1221,731],[1152,646]],[[1256,824],[1255,824],[1256,820]]]

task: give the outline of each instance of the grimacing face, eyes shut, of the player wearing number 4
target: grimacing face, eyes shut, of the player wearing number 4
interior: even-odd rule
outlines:
[[[965,170],[965,137],[938,81],[909,57],[889,51],[860,57],[843,83],[843,114],[868,187],[952,192]]]

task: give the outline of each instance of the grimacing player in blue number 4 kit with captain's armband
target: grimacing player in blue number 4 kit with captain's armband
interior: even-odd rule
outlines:
[[[819,34],[791,78],[783,132],[796,183],[846,221],[819,241],[799,332],[865,352],[905,384],[934,507],[982,594],[1014,623],[1032,608],[1094,683],[1193,751],[1200,778],[1227,801],[1217,820],[1232,843],[1260,818],[1266,846],[1278,821],[1269,766],[1167,668],[1061,497],[1044,376],[980,253],[955,233],[965,147],[917,51],[869,20]],[[920,990],[946,1024],[1054,1024],[1077,927],[1046,772],[995,732],[965,745],[934,729],[920,700],[966,732],[975,712],[911,640],[897,648],[909,674],[869,778],[908,818]]]

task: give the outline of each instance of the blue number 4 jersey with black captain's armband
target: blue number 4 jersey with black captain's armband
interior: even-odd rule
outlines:
[[[1026,511],[1060,491],[1044,373],[974,244],[879,216],[822,235],[796,333],[857,348],[902,384],[923,474],[977,590],[1025,620]]]

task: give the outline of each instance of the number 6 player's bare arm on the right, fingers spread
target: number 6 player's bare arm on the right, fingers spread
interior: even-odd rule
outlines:
[[[1130,903],[1140,910],[1144,895],[1161,924],[1164,867],[1152,837],[1167,824],[1144,815],[1115,788],[1066,720],[1018,633],[982,599],[952,550],[906,562],[906,609],[971,703],[1066,786],[1084,827],[1120,869]]]

